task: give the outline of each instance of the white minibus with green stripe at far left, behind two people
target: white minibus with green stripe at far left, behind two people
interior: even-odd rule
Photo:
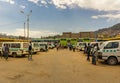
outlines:
[[[16,56],[24,56],[28,54],[28,42],[1,42],[0,43],[0,53],[2,54],[2,46],[8,45],[10,53],[9,55]]]

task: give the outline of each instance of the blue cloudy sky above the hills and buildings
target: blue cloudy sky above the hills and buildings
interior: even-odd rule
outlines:
[[[0,0],[0,33],[23,36],[28,14],[30,37],[95,31],[120,22],[120,0]]]

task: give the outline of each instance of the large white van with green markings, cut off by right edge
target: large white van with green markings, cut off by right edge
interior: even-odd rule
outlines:
[[[103,42],[98,51],[98,58],[110,65],[120,62],[120,40]]]

